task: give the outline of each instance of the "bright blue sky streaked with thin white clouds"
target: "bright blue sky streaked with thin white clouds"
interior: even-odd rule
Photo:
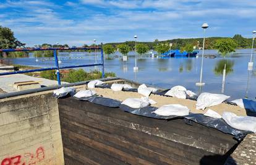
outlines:
[[[198,38],[204,22],[206,36],[251,38],[255,0],[0,0],[0,25],[27,46]]]

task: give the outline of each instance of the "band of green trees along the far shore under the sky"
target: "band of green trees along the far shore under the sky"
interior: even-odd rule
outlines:
[[[170,45],[171,43],[171,45]],[[205,49],[221,49],[224,51],[223,46],[232,44],[232,49],[250,48],[252,38],[244,38],[242,35],[234,35],[233,38],[228,37],[209,37],[205,39]],[[187,38],[187,39],[173,39],[166,41],[155,40],[153,42],[138,42],[136,51],[138,54],[145,54],[150,49],[154,49],[158,53],[164,53],[169,49],[181,49],[181,51],[191,52],[194,48],[202,48],[203,38]],[[255,42],[256,45],[256,42]],[[99,44],[91,44],[90,46],[100,46]],[[14,33],[10,28],[0,26],[0,49],[9,48],[25,48],[25,43],[17,40],[14,37]],[[44,43],[37,45],[36,48],[69,48],[68,44],[48,44]],[[88,45],[84,44],[83,47],[87,48]],[[107,58],[109,54],[113,54],[115,51],[119,51],[126,56],[129,51],[135,50],[135,41],[125,41],[123,43],[106,43],[103,44],[103,51]],[[74,50],[63,50],[63,51],[74,51]],[[85,51],[85,50],[76,50]],[[92,50],[87,50],[88,52]],[[229,51],[227,51],[229,52]],[[25,57],[28,53],[25,52],[12,52],[8,54],[2,54],[2,56],[9,57]],[[35,51],[34,56],[36,57],[53,57],[53,51]]]

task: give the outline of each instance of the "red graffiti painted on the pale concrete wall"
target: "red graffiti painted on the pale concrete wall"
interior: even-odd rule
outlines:
[[[1,165],[33,165],[45,159],[45,149],[40,146],[35,153],[24,153],[2,159]]]

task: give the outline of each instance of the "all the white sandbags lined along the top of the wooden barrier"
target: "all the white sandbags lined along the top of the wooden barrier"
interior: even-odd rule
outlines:
[[[88,83],[89,88],[95,88],[96,85],[102,85],[103,82],[100,80],[94,80]],[[130,85],[126,84],[117,84],[114,83],[111,85],[111,89],[113,91],[121,91],[123,88],[132,88]],[[149,99],[148,96],[150,93],[155,92],[156,88],[147,87],[145,84],[140,85],[138,88],[138,93],[144,95],[145,97],[142,98],[127,98],[121,104],[125,104],[130,108],[144,108],[150,106],[151,104],[156,104],[155,101]],[[54,91],[54,95],[56,97],[61,97],[70,93],[74,95],[75,98],[83,98],[83,97],[90,97],[96,95],[96,92],[93,90],[80,90],[75,93],[74,88],[70,87],[62,87],[59,90]],[[74,94],[75,93],[75,94]],[[187,96],[188,94],[195,95],[192,91],[187,91],[186,88],[182,86],[176,86],[171,88],[171,90],[165,93],[166,96],[174,96],[177,98],[184,98],[184,95]],[[197,98],[197,109],[205,109],[210,106],[215,106],[217,104],[223,103],[229,96],[222,95],[222,94],[213,94],[213,93],[202,93]],[[237,105],[243,106],[241,100],[237,99],[234,101]],[[243,107],[242,107],[243,108]],[[160,108],[153,111],[153,113],[158,114],[159,116],[187,116],[189,115],[190,109],[186,106],[182,106],[181,104],[167,104],[161,106]],[[217,112],[208,109],[208,111],[204,114],[205,116],[214,117],[214,118],[222,118],[228,125],[234,127],[235,129],[239,130],[249,130],[252,132],[256,132],[256,117],[250,116],[237,116],[232,112],[223,112],[221,116]]]

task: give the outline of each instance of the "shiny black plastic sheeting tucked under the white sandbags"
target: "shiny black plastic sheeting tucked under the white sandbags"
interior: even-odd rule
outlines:
[[[96,87],[97,88],[110,88],[111,86],[107,85],[107,84],[103,84],[103,85],[98,85]],[[123,91],[137,92],[137,89],[134,89],[134,88],[123,89]],[[164,95],[167,91],[168,90],[156,91],[154,94]],[[72,94],[70,94],[70,93],[63,93],[61,96],[58,96],[58,98],[67,96],[68,94],[72,96]],[[234,138],[236,138],[236,140],[238,140],[238,141],[241,141],[245,137],[245,135],[247,135],[247,133],[252,133],[249,131],[234,129],[233,127],[226,124],[226,122],[223,119],[215,119],[213,117],[204,116],[203,114],[189,113],[189,115],[187,115],[187,116],[159,116],[158,114],[155,114],[153,112],[153,111],[156,111],[157,108],[151,107],[151,106],[147,106],[145,108],[138,108],[138,109],[130,108],[129,106],[121,104],[121,102],[117,101],[116,99],[103,98],[102,96],[91,96],[91,97],[76,98],[76,99],[80,99],[83,101],[90,101],[90,103],[100,104],[102,106],[107,106],[110,108],[120,108],[122,111],[125,111],[125,112],[130,112],[135,115],[151,117],[151,118],[155,118],[155,119],[167,119],[168,120],[168,119],[183,118],[184,122],[186,122],[186,124],[192,125],[192,121],[194,121],[194,122],[197,122],[198,124],[205,125],[206,127],[220,130],[223,133],[229,133],[231,135],[234,135]],[[196,99],[196,98],[194,98],[194,99]],[[243,99],[243,102],[245,105],[245,109],[247,109],[247,113],[250,113],[250,116],[254,116],[256,114],[255,101]],[[254,110],[251,110],[251,109],[254,109]]]

